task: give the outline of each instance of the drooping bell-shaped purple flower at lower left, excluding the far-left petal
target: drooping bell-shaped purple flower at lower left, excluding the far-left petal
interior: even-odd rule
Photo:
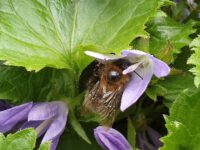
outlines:
[[[35,104],[28,114],[28,122],[22,129],[33,127],[38,137],[44,134],[41,143],[51,141],[55,150],[67,122],[68,108],[64,102],[53,101]]]

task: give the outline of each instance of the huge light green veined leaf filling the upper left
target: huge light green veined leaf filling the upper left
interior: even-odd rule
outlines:
[[[83,51],[119,51],[159,9],[158,0],[0,0],[0,60],[27,70],[81,69]],[[93,50],[92,49],[92,50]],[[73,59],[72,59],[73,58]]]

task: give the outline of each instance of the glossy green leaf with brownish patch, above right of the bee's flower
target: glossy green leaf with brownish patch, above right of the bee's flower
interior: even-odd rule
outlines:
[[[179,23],[170,17],[154,18],[147,25],[147,31],[151,34],[150,53],[162,58],[168,52],[166,49],[169,49],[169,46],[172,47],[173,54],[180,53],[181,48],[191,42],[189,35],[195,32],[194,24],[193,21]]]

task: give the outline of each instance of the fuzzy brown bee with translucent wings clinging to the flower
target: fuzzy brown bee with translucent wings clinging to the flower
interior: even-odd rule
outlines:
[[[101,125],[112,126],[119,111],[123,91],[131,79],[130,74],[122,73],[129,65],[124,59],[92,63],[92,75],[87,81],[82,104],[83,115],[97,114]]]

